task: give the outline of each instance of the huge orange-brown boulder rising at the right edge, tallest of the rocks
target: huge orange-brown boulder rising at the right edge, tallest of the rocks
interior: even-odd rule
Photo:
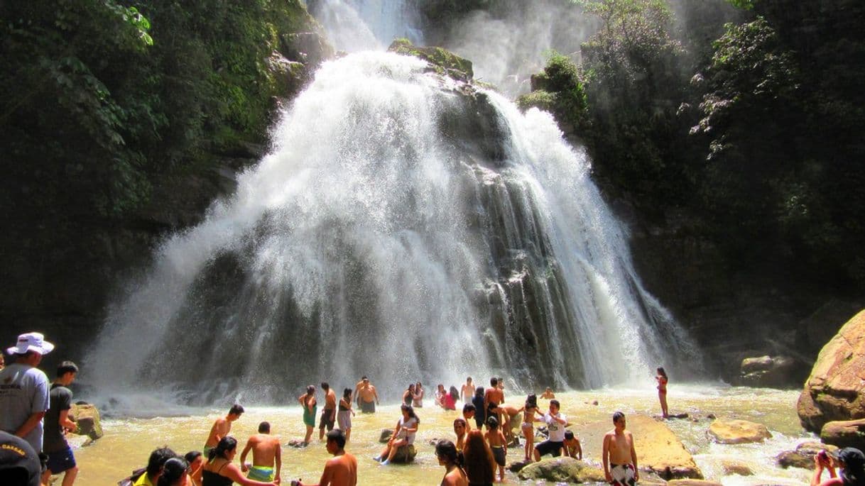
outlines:
[[[827,342],[799,395],[802,426],[820,432],[827,422],[865,418],[865,310]]]

